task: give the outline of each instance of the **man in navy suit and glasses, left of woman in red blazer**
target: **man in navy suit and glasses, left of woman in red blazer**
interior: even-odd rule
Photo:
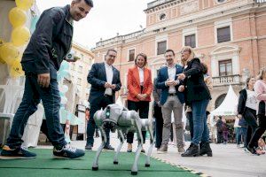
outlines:
[[[90,119],[87,126],[87,143],[86,150],[91,150],[93,147],[93,135],[95,132],[95,122],[93,119],[94,113],[98,110],[105,109],[108,104],[114,104],[115,91],[121,89],[120,73],[113,67],[113,62],[116,58],[116,50],[107,50],[105,62],[96,63],[91,66],[88,74],[88,82],[90,88]],[[106,130],[107,142],[104,147],[106,150],[114,150],[110,145],[110,129]]]

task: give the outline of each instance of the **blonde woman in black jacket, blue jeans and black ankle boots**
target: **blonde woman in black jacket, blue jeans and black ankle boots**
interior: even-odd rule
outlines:
[[[178,74],[178,80],[184,81],[179,91],[184,91],[185,104],[192,108],[193,119],[192,143],[181,156],[196,157],[205,154],[212,156],[206,116],[207,104],[211,96],[204,81],[203,66],[200,64],[200,59],[195,58],[191,47],[184,47],[181,54],[182,61],[186,62],[187,66],[183,73]],[[199,150],[200,142],[201,150]]]

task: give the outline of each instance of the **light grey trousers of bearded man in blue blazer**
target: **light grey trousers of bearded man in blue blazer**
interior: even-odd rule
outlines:
[[[170,138],[171,128],[171,115],[174,112],[174,119],[176,125],[176,143],[177,147],[184,147],[183,142],[183,104],[180,103],[177,96],[168,96],[167,102],[161,106],[162,118],[163,118],[163,129],[162,129],[162,142],[161,144],[168,145]]]

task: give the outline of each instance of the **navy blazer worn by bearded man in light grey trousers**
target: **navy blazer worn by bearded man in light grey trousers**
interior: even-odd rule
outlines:
[[[182,73],[182,66],[176,65],[176,74]],[[164,66],[160,68],[157,80],[156,80],[156,89],[161,90],[161,96],[160,96],[160,104],[163,105],[166,103],[168,99],[168,89],[169,87],[165,85],[165,81],[168,80],[168,67]],[[175,80],[177,79],[177,76]],[[176,85],[176,96],[178,97],[181,104],[184,104],[184,93],[178,91],[178,87],[181,85],[181,83]]]

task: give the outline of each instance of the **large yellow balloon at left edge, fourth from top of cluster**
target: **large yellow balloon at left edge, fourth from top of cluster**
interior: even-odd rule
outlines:
[[[0,58],[2,58],[7,65],[12,65],[12,62],[19,58],[19,55],[20,50],[18,50],[12,42],[4,43],[0,47]]]

